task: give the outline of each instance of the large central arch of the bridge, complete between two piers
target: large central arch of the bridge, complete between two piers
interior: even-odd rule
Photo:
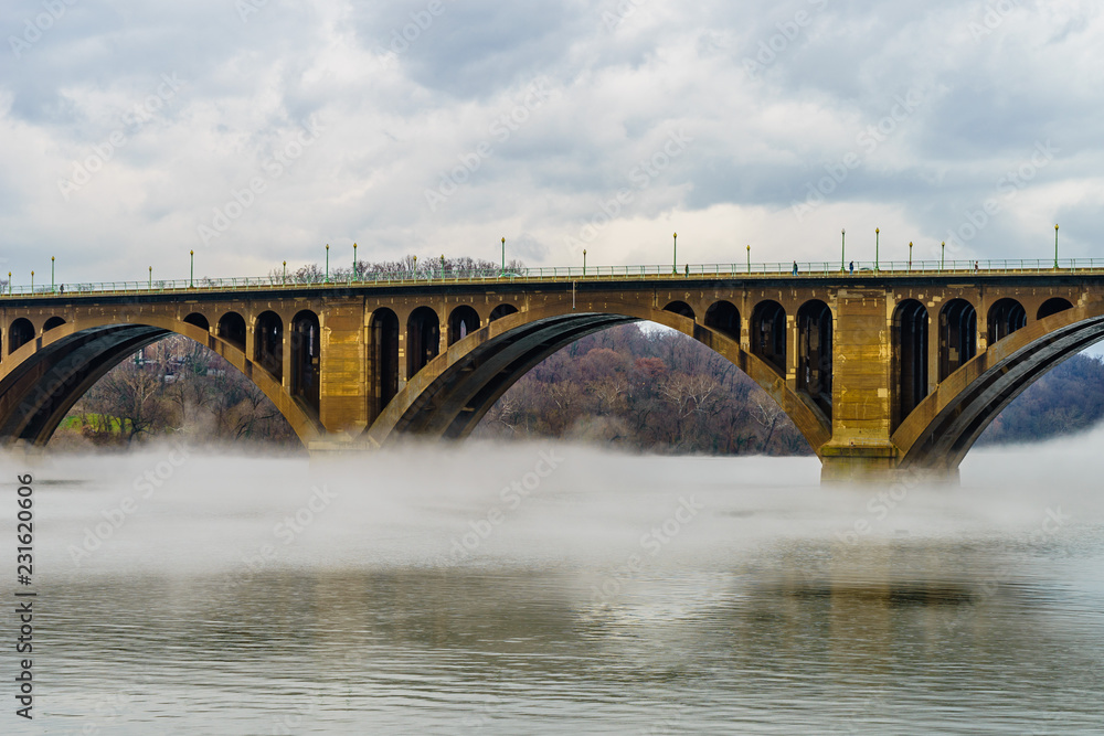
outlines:
[[[411,377],[369,427],[367,439],[380,446],[399,435],[466,437],[510,386],[555,351],[593,332],[644,320],[692,337],[731,361],[782,406],[814,450],[830,439],[824,416],[739,342],[681,314],[622,302],[604,302],[602,310],[558,303],[488,323]]]

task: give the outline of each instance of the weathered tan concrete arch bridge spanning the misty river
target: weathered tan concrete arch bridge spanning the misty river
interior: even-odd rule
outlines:
[[[957,478],[992,418],[1104,338],[1104,274],[492,278],[0,297],[0,445],[49,441],[108,370],[170,333],[214,350],[312,452],[463,438],[529,369],[649,320],[793,418],[825,480]]]

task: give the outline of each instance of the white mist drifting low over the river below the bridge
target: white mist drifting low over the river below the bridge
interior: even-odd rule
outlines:
[[[934,487],[820,487],[815,458],[558,442],[415,444],[319,461],[155,442],[126,455],[7,455],[3,466],[34,476],[44,579],[298,567],[602,575],[637,557],[726,569],[794,543],[840,554],[995,534],[1029,542],[1055,513],[1060,538],[1100,534],[1102,441],[1104,429],[976,450],[960,486]]]

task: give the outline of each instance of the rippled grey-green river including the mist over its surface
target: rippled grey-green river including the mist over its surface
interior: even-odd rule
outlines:
[[[895,489],[565,445],[8,456],[35,719],[6,643],[0,733],[1101,734],[1102,444]]]

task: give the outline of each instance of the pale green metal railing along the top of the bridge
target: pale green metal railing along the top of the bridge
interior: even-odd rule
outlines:
[[[7,285],[0,289],[0,297],[57,297],[64,295],[125,295],[125,294],[171,294],[187,291],[247,291],[278,288],[301,288],[318,286],[341,288],[349,286],[403,286],[414,284],[464,284],[486,281],[591,281],[616,279],[668,279],[694,276],[715,278],[747,278],[789,276],[820,277],[843,275],[853,278],[874,276],[907,276],[938,274],[1078,274],[1104,271],[1104,258],[1053,259],[987,259],[987,260],[883,260],[878,264],[868,260],[846,265],[839,262],[794,262],[789,263],[744,263],[728,264],[682,264],[650,266],[543,266],[518,270],[487,269],[433,269],[418,268],[416,271],[371,271],[343,279],[327,279],[322,275],[307,278],[287,277],[242,277],[242,278],[197,278],[145,281],[95,281],[88,284],[54,285]],[[796,274],[795,274],[796,267]]]

